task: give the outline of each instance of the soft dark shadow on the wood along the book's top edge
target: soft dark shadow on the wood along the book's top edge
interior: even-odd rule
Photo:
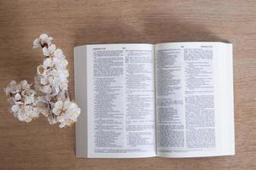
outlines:
[[[104,17],[90,20],[75,32],[74,46],[95,43],[159,43],[159,42],[229,42],[218,37],[207,26],[172,18],[159,20],[117,19],[109,22]]]

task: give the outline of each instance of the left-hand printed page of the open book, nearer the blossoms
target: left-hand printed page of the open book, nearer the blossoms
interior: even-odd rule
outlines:
[[[88,157],[155,156],[154,45],[87,45]]]

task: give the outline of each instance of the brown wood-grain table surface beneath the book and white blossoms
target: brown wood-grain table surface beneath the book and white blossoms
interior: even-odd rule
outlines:
[[[0,169],[256,169],[256,2],[6,0],[0,1],[0,88],[33,81],[42,32],[55,38],[69,60],[89,43],[223,41],[234,46],[236,156],[187,159],[82,159],[75,157],[74,126],[49,126],[45,117],[18,122],[0,95]]]

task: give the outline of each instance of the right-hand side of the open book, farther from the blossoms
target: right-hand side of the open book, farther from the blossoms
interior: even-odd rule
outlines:
[[[232,46],[155,47],[157,156],[233,155]]]

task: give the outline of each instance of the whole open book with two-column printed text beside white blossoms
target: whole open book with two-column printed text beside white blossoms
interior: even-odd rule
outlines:
[[[235,154],[232,44],[74,48],[81,157]]]

